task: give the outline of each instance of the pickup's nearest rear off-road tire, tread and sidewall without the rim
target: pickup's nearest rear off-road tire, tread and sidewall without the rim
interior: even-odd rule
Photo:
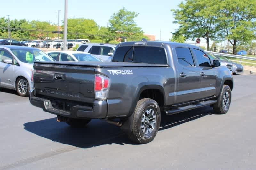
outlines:
[[[143,114],[146,113],[148,109],[152,109],[154,113],[156,113],[156,119],[155,119],[155,127],[151,132],[147,132],[148,134],[145,134],[142,131],[142,117]],[[127,121],[132,121],[132,122],[127,122],[131,123],[130,129],[126,131],[126,134],[135,143],[139,144],[145,144],[148,142],[151,142],[159,129],[160,126],[160,121],[161,121],[161,112],[160,108],[157,104],[157,102],[153,99],[149,98],[144,98],[141,99],[137,102],[136,108],[133,113],[133,119],[128,119]]]

